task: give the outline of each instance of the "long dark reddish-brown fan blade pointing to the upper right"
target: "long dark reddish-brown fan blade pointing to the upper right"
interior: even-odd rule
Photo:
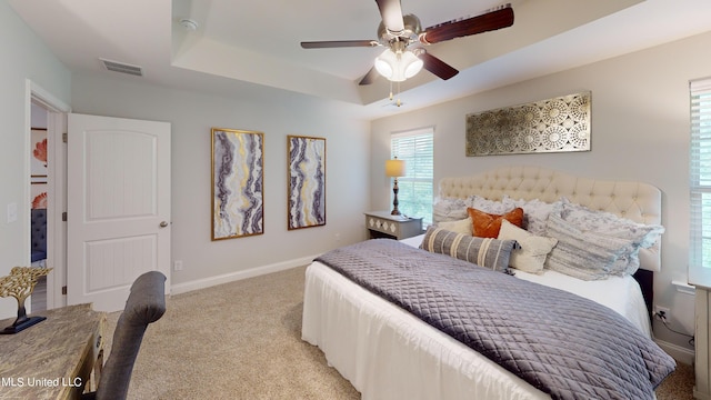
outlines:
[[[444,22],[439,26],[428,28],[420,34],[420,41],[424,44],[433,44],[454,38],[508,28],[512,24],[513,9],[511,8],[511,4],[508,4],[502,9],[487,12],[481,16],[460,21]]]

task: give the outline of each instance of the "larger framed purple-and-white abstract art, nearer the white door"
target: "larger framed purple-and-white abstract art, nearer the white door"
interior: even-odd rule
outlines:
[[[212,128],[212,240],[264,233],[264,134]]]

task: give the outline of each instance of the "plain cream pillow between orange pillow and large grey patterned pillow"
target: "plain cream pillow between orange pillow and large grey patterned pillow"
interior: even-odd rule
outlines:
[[[543,272],[543,264],[548,253],[555,247],[558,239],[532,234],[513,223],[501,221],[499,240],[515,240],[519,249],[511,251],[509,266],[531,273]]]

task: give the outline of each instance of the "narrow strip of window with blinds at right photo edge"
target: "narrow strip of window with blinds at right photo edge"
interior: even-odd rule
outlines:
[[[691,92],[689,276],[711,280],[711,79],[693,81]],[[705,283],[708,284],[708,283]]]

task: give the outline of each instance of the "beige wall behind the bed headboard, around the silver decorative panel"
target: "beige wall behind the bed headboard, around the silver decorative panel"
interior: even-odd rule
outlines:
[[[693,331],[693,298],[672,280],[687,280],[689,244],[689,80],[711,76],[711,33],[618,57],[372,122],[371,208],[387,209],[382,166],[391,132],[434,127],[435,180],[509,166],[534,164],[582,176],[639,180],[663,192],[662,271],[655,302],[671,308],[674,328]],[[464,156],[464,116],[582,90],[592,92],[591,148],[582,153]],[[404,97],[404,96],[403,96]],[[655,326],[655,336],[689,348],[688,338]]]

